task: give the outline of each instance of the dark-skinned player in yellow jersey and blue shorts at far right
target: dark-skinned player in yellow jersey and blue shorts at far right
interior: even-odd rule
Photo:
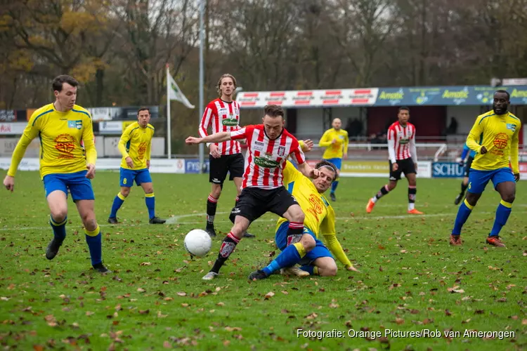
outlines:
[[[502,200],[497,206],[496,218],[487,243],[505,247],[500,239],[500,230],[507,223],[512,211],[512,202],[516,196],[516,181],[520,178],[518,164],[518,134],[521,121],[508,112],[509,93],[498,90],[494,93],[493,111],[481,114],[474,123],[467,138],[467,146],[477,152],[469,173],[469,190],[461,204],[454,229],[450,235],[450,244],[461,245],[461,228],[489,180]],[[509,157],[510,164],[509,168]],[[514,174],[513,174],[514,173]]]

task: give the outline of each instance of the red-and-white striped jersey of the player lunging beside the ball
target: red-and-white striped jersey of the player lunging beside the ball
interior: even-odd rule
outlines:
[[[246,126],[239,131],[230,132],[233,140],[247,138],[245,172],[242,188],[259,187],[275,189],[283,185],[282,171],[289,154],[298,164],[306,161],[297,138],[285,129],[274,140],[267,137],[263,124]]]

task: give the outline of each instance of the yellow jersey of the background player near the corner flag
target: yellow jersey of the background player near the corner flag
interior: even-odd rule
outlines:
[[[126,169],[143,169],[146,168],[146,161],[150,161],[150,151],[152,150],[152,136],[154,127],[147,124],[145,128],[141,127],[138,122],[134,122],[124,129],[119,140],[119,151],[122,154],[121,167]],[[126,157],[134,161],[134,168],[126,164]]]

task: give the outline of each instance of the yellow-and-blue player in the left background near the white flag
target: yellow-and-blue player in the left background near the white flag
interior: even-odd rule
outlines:
[[[121,135],[119,151],[122,154],[120,185],[121,191],[113,199],[112,211],[108,223],[116,224],[117,211],[121,208],[124,199],[130,194],[134,185],[141,185],[145,191],[145,203],[148,208],[150,224],[163,224],[166,220],[155,216],[155,197],[152,178],[150,177],[150,151],[152,150],[152,136],[154,127],[149,124],[150,110],[141,107],[137,112],[137,121],[130,124]]]

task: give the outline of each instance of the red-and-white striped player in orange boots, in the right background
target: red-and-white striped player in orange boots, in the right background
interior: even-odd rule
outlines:
[[[368,201],[366,212],[372,212],[377,201],[397,186],[398,180],[401,180],[401,173],[404,173],[408,179],[408,213],[422,215],[421,211],[415,209],[417,148],[415,147],[415,126],[408,122],[410,109],[399,107],[397,117],[398,121],[388,128],[387,133],[390,181]]]

